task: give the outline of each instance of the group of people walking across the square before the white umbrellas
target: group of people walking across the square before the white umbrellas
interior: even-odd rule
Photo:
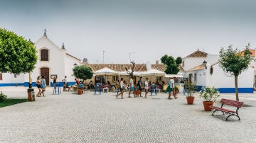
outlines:
[[[124,79],[121,78],[121,81],[119,81],[119,86],[117,86],[117,88],[120,90],[120,93],[117,94],[118,96],[121,96],[121,98],[123,99],[124,97]],[[145,91],[145,95],[144,98],[146,98],[147,94],[149,93],[149,89],[151,87],[151,85],[156,85],[154,84],[154,82],[151,84],[149,81],[149,78],[146,78],[146,81],[144,81],[144,86],[142,85],[142,77],[139,77],[139,81],[136,84],[134,84],[134,77],[132,76],[131,79],[129,80],[129,94],[128,97],[131,98],[130,94],[131,92],[134,94],[134,98],[136,97],[143,97],[142,96],[142,89],[144,88]],[[171,92],[173,92],[174,98],[178,98],[175,94],[174,94],[174,86],[175,86],[175,81],[174,78],[171,78],[169,81],[169,86],[170,86],[170,91],[169,91],[169,95],[168,95],[168,99],[172,99],[171,98]]]

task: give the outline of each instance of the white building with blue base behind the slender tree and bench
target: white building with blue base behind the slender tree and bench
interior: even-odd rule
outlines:
[[[254,55],[252,50],[252,56]],[[218,55],[208,55],[197,50],[183,58],[183,69],[188,75],[188,81],[196,83],[198,90],[202,86],[215,86],[221,93],[235,92],[235,78],[223,71],[218,62]],[[203,65],[206,61],[206,67]],[[238,92],[253,93],[255,62],[252,61],[247,70],[238,76]]]

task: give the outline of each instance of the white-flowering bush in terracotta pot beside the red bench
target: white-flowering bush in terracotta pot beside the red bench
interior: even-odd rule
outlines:
[[[203,101],[203,108],[206,111],[211,111],[210,106],[220,97],[220,92],[214,86],[203,86],[201,91],[199,91],[199,96],[205,100]]]

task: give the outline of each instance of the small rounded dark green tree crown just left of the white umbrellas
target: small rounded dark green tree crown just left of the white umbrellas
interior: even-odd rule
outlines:
[[[73,69],[73,73],[76,78],[82,79],[83,81],[85,81],[86,79],[92,79],[93,75],[92,69],[84,65],[75,67]]]

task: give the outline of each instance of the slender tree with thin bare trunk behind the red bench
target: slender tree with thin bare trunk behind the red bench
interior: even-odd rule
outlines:
[[[250,52],[249,47],[250,44],[248,44],[242,52],[239,52],[238,48],[233,49],[232,45],[228,46],[226,50],[224,50],[223,47],[220,49],[220,67],[225,72],[235,76],[235,96],[237,101],[239,101],[238,76],[242,71],[249,67],[252,60],[252,53]]]

